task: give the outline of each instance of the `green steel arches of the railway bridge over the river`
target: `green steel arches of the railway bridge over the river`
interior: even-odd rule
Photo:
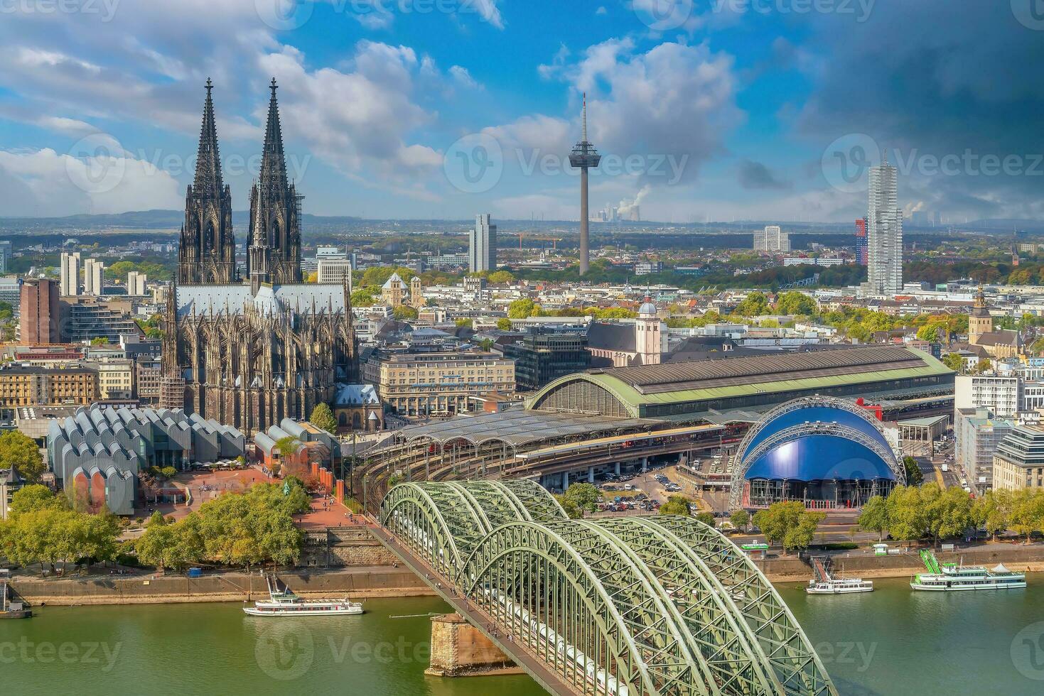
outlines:
[[[578,693],[837,694],[746,554],[690,518],[569,520],[509,480],[401,484],[380,521]]]

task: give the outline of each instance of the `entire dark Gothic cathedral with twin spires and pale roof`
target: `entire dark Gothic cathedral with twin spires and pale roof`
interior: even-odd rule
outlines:
[[[333,401],[338,384],[357,383],[357,342],[349,285],[301,279],[302,197],[287,181],[275,79],[240,278],[212,89],[207,80],[177,280],[167,295],[162,401],[250,435],[284,417],[306,419]]]

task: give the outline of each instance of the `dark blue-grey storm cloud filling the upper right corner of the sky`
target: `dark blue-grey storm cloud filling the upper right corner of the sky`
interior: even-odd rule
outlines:
[[[1007,0],[878,2],[861,25],[814,21],[806,46],[821,61],[798,121],[804,135],[826,147],[863,133],[897,150],[908,165],[904,203],[919,197],[954,217],[1044,217],[1044,26],[1024,26]],[[983,158],[1013,166],[992,173]]]

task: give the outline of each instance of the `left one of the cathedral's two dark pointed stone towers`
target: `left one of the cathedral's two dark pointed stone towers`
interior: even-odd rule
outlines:
[[[221,182],[221,158],[214,123],[213,82],[199,130],[195,181],[185,196],[185,225],[177,248],[177,282],[236,283],[236,239],[232,232],[232,191]]]

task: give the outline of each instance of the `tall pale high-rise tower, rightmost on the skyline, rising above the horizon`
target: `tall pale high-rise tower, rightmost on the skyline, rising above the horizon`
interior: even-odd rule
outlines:
[[[867,289],[887,297],[903,289],[903,212],[899,210],[897,174],[887,153],[880,166],[870,168]]]

